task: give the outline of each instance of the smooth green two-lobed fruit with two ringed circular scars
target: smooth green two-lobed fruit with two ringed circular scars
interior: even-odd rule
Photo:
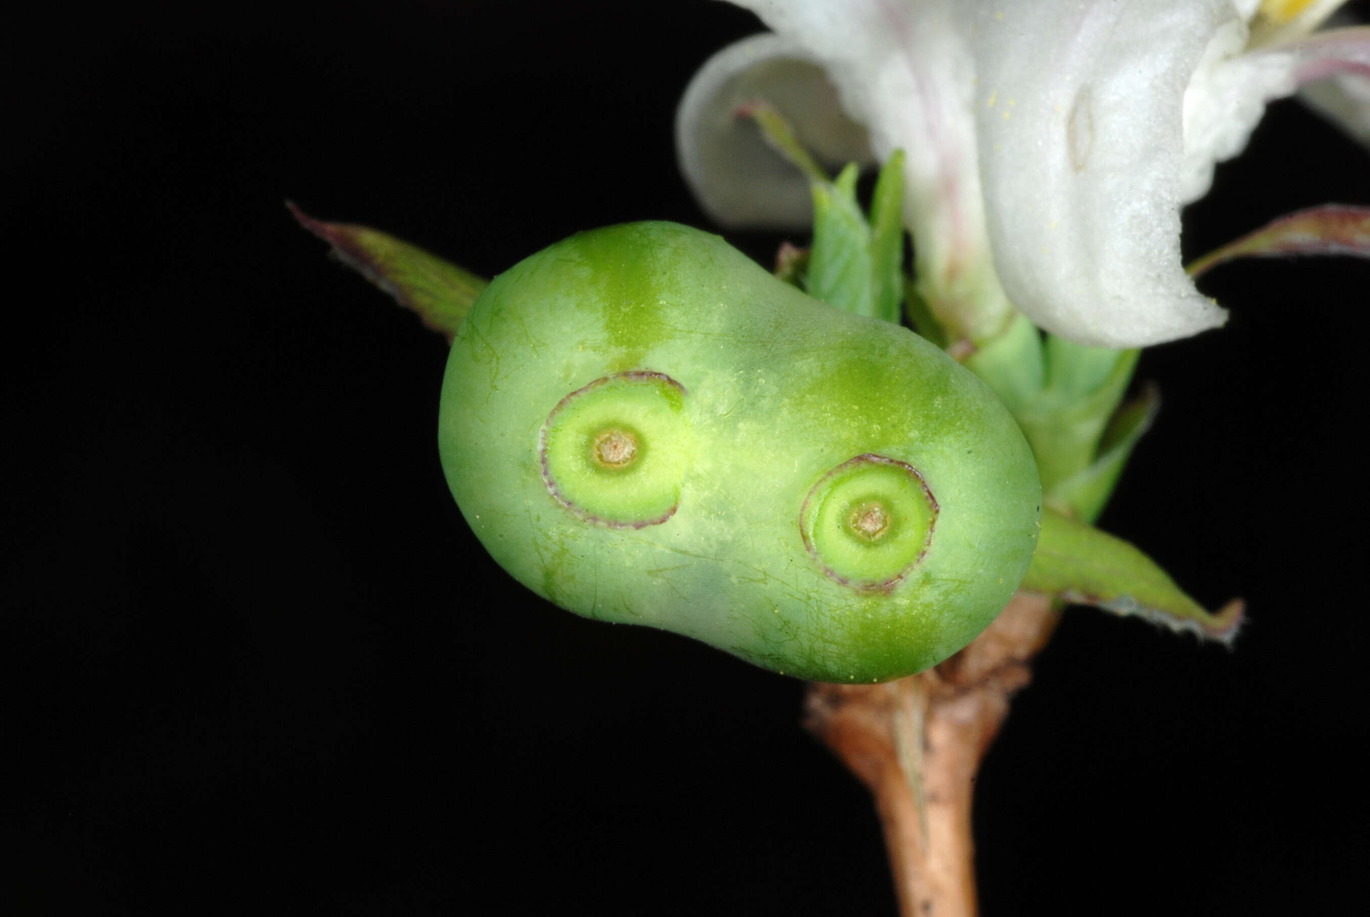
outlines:
[[[1037,533],[1032,452],[978,378],[674,223],[495,278],[438,440],[471,529],[538,595],[821,681],[966,646]]]

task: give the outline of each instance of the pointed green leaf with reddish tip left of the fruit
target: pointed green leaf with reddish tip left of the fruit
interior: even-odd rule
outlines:
[[[451,265],[377,229],[314,219],[285,201],[300,225],[333,247],[333,254],[355,269],[448,343],[456,336],[471,303],[489,281]]]

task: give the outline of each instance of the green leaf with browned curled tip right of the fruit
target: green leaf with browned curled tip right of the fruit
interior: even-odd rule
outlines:
[[[1204,610],[1136,547],[1049,506],[1043,507],[1037,552],[1021,588],[1133,614],[1226,646],[1236,639],[1244,613],[1241,599],[1215,614]]]

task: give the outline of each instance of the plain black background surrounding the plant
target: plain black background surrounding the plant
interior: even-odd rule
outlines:
[[[0,64],[0,910],[893,913],[803,685],[499,570],[437,462],[445,344],[282,207],[486,276],[707,225],[674,104],[756,21],[40,14]],[[1186,254],[1328,200],[1370,204],[1370,159],[1275,104]],[[980,780],[985,914],[1363,899],[1367,282],[1223,267],[1230,325],[1144,355],[1164,410],[1103,525],[1251,624],[1226,652],[1067,613]]]

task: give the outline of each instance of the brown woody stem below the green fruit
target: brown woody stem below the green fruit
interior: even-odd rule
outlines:
[[[873,685],[810,685],[804,726],[874,794],[903,917],[974,917],[975,772],[1059,620],[1018,592],[964,650]]]

